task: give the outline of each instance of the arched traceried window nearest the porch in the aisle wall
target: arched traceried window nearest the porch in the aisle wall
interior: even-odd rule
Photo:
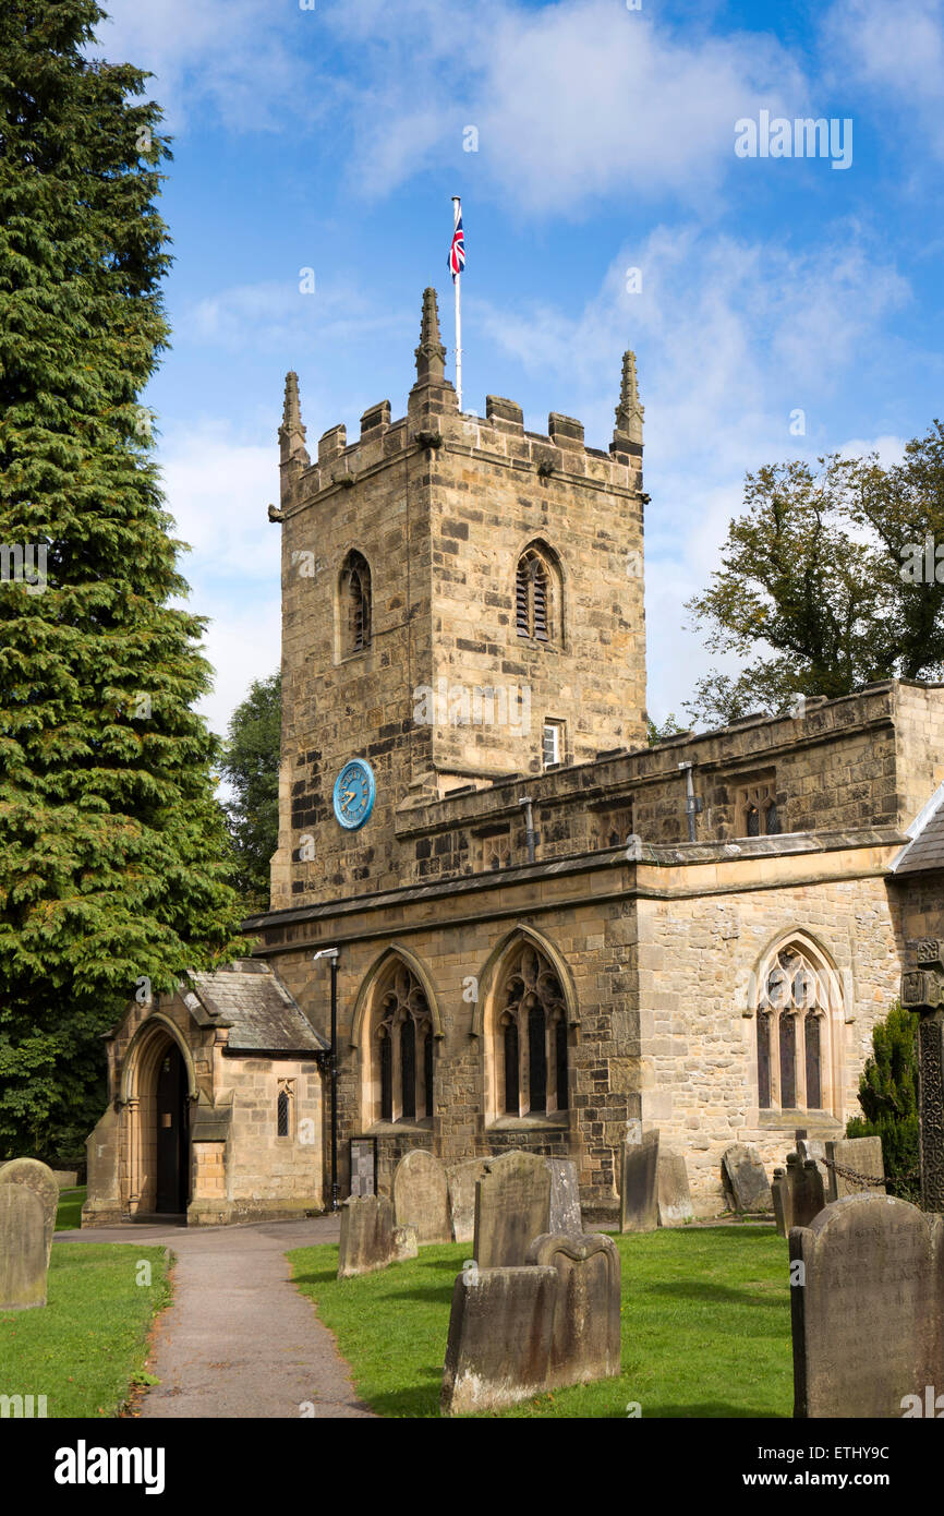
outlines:
[[[405,963],[397,963],[379,994],[371,1060],[379,1093],[374,1120],[432,1117],[432,1016],[417,975]]]

